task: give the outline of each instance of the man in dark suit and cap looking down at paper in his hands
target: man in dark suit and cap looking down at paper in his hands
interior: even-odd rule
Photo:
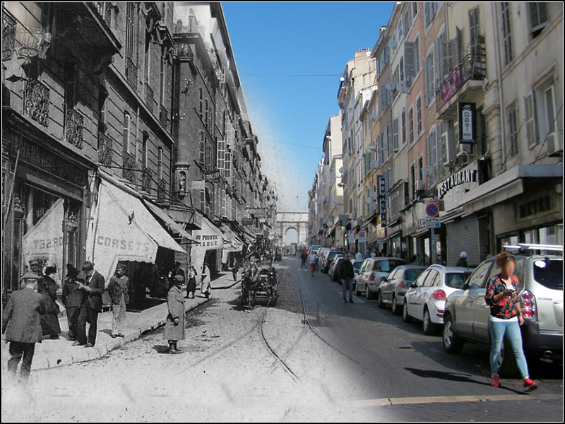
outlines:
[[[98,314],[102,312],[102,293],[106,290],[106,282],[102,274],[95,271],[92,262],[86,261],[82,270],[86,275],[85,284],[79,283],[79,287],[85,292],[85,300],[81,305],[81,312],[78,314],[77,341],[73,343],[73,346],[92,348],[96,343]],[[86,336],[87,322],[90,324],[88,338]]]

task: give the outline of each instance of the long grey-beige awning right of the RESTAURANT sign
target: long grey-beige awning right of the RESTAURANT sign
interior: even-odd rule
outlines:
[[[524,178],[563,177],[563,167],[557,165],[517,165],[498,177],[480,184],[474,190],[461,196],[460,204],[465,206],[465,214],[480,211],[501,201],[518,196],[524,191]]]

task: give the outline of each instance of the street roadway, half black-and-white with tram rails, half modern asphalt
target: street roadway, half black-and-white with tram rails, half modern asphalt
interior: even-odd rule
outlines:
[[[488,350],[441,349],[439,336],[356,297],[328,276],[276,264],[279,298],[240,310],[239,285],[189,312],[183,353],[162,329],[105,358],[3,384],[7,420],[556,420],[561,367],[539,367],[535,394],[519,380],[489,386]],[[304,302],[303,299],[304,298]],[[306,312],[304,312],[304,305]],[[429,397],[433,396],[433,397]],[[448,397],[450,396],[450,397]],[[464,396],[464,397],[463,397]],[[475,397],[478,396],[478,397]],[[470,401],[470,399],[474,401]],[[479,401],[478,399],[482,399]],[[56,401],[57,408],[49,405]],[[391,405],[392,404],[392,405]]]

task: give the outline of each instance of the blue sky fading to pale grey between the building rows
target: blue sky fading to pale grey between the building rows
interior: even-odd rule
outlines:
[[[222,6],[263,172],[280,211],[307,210],[328,118],[339,112],[340,75],[357,49],[374,47],[393,3]]]

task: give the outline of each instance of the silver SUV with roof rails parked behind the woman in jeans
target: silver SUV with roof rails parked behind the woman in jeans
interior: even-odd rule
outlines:
[[[562,247],[561,247],[562,252]],[[463,290],[448,296],[444,312],[444,351],[459,353],[465,342],[490,346],[490,308],[484,301],[487,283],[499,273],[495,258],[482,262]],[[563,257],[516,255],[518,295],[525,324],[521,326],[528,359],[563,360]],[[516,358],[504,340],[499,356],[501,374],[516,375]]]

